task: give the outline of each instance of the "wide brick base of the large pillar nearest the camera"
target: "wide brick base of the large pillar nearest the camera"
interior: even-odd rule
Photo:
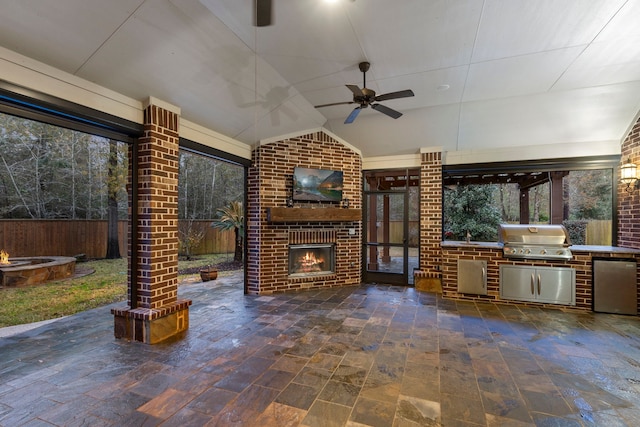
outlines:
[[[191,300],[178,300],[158,308],[114,308],[114,334],[118,339],[157,344],[189,329]]]

